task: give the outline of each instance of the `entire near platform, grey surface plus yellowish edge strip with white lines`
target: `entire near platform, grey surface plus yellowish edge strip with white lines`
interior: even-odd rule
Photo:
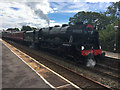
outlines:
[[[74,88],[69,80],[55,73],[48,67],[40,65],[33,58],[17,48],[2,42],[2,88],[55,89]],[[80,88],[79,88],[80,89]]]

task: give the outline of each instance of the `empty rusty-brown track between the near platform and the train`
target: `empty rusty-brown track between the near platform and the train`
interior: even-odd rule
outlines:
[[[11,43],[11,42],[9,42],[9,43]],[[71,82],[74,82],[80,88],[84,88],[84,89],[85,88],[110,89],[108,86],[105,86],[105,85],[103,85],[97,81],[94,81],[94,80],[92,80],[84,75],[81,75],[77,72],[74,72],[73,70],[71,70],[67,67],[61,66],[60,64],[55,63],[55,62],[45,58],[44,56],[39,55],[39,53],[35,52],[34,50],[31,51],[31,49],[23,48],[20,45],[17,45],[15,43],[11,43],[11,44],[14,45],[15,47],[19,48],[24,53],[32,56],[33,58],[38,60],[40,63],[46,65],[47,67],[51,68],[55,72],[64,76],[65,78],[67,78]]]

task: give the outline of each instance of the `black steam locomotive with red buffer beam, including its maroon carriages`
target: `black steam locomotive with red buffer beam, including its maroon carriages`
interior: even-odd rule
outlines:
[[[72,56],[76,62],[82,60],[86,66],[96,65],[95,57],[102,56],[99,34],[90,24],[41,28],[38,31],[3,32],[5,39],[19,41],[32,47],[47,48],[64,56]]]

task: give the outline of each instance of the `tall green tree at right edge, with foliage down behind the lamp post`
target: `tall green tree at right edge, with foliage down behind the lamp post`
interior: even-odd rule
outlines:
[[[106,29],[103,29],[99,32],[100,43],[103,46],[104,50],[114,51],[115,43],[115,31],[114,26],[118,25],[117,31],[117,43],[115,52],[120,52],[120,1],[112,3],[105,12],[105,15],[109,18],[110,23]]]

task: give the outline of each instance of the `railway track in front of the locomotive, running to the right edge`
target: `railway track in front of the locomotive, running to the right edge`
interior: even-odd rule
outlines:
[[[120,82],[120,77],[119,77],[120,72],[118,67],[114,68],[109,65],[97,63],[97,65],[94,68],[89,68],[84,65],[76,65],[76,63],[74,63],[73,61],[71,61],[70,63],[75,66],[78,66],[78,68],[83,68],[84,70],[89,70],[103,77],[110,78],[112,80]]]

